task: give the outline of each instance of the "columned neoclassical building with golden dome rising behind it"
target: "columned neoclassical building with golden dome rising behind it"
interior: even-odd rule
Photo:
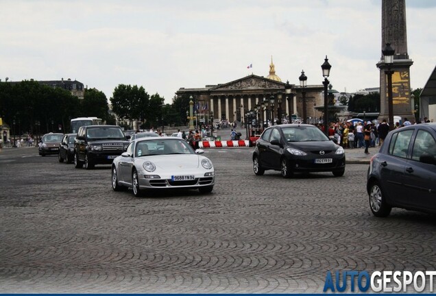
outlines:
[[[282,82],[276,75],[272,58],[267,77],[252,74],[224,84],[206,85],[204,88],[179,88],[175,95],[192,97],[194,106],[205,109],[204,112],[211,118],[241,121],[241,114],[244,116],[243,114],[252,110],[258,112],[259,119],[265,121],[271,119],[271,116],[278,119],[279,113],[282,118],[289,118],[291,114],[302,116],[303,90],[307,121],[310,123],[322,116],[315,106],[322,106],[324,103],[324,86],[308,85],[302,88],[300,85]]]

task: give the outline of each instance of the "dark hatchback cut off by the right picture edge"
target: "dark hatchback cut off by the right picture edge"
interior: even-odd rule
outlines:
[[[392,208],[436,212],[436,123],[389,132],[367,175],[370,208],[387,217]]]

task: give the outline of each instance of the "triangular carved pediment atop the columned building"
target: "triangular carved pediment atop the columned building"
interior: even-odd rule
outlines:
[[[255,89],[283,89],[284,83],[276,82],[265,77],[250,75],[241,79],[228,82],[227,84],[219,84],[210,90],[255,90]]]

